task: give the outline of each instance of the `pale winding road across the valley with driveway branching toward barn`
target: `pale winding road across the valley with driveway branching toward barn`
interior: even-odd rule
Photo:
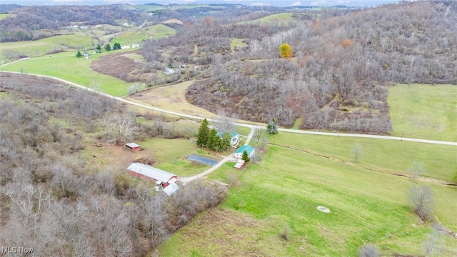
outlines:
[[[14,72],[14,71],[0,71],[0,72],[12,73],[12,74],[21,74],[20,72]],[[121,101],[121,102],[124,102],[126,104],[139,106],[139,107],[142,107],[142,108],[145,108],[145,109],[150,109],[150,110],[154,110],[154,111],[160,111],[160,112],[162,112],[164,114],[172,114],[172,115],[181,116],[181,117],[188,118],[188,119],[198,119],[198,120],[206,119],[208,121],[215,121],[214,119],[204,118],[204,117],[201,117],[201,116],[194,116],[194,115],[189,115],[189,114],[181,114],[181,113],[176,112],[176,111],[169,111],[169,110],[166,110],[166,109],[156,108],[154,106],[148,106],[146,104],[139,104],[139,103],[134,102],[134,101],[123,99],[123,98],[118,97],[118,96],[111,96],[111,95],[103,93],[101,91],[97,91],[95,89],[90,89],[90,88],[88,88],[86,86],[82,86],[80,84],[76,84],[74,82],[67,81],[65,79],[59,79],[59,78],[56,78],[56,77],[53,77],[53,76],[46,76],[46,75],[40,75],[40,74],[27,74],[27,75],[39,76],[39,77],[48,78],[48,79],[55,79],[57,81],[64,82],[65,84],[69,84],[70,86],[75,86],[75,87],[78,87],[80,89],[84,89],[86,91],[91,91],[91,92],[94,92],[94,93],[99,94],[101,96],[105,96],[105,97],[109,97],[111,99],[114,99],[116,101]],[[245,145],[247,145],[249,143],[249,141],[251,141],[251,138],[253,137],[253,133],[254,133],[254,131],[256,129],[265,129],[265,126],[259,126],[259,125],[253,125],[253,124],[247,124],[247,123],[239,123],[239,122],[236,122],[235,124],[237,126],[245,126],[245,127],[248,127],[248,128],[251,129],[251,132],[249,133],[248,138],[246,139]],[[420,139],[420,138],[403,138],[403,137],[398,137],[398,136],[380,136],[380,135],[358,134],[358,133],[333,133],[333,132],[319,132],[319,131],[301,131],[301,130],[296,130],[296,129],[278,129],[278,131],[288,132],[288,133],[303,133],[303,134],[311,134],[311,135],[321,135],[321,136],[345,136],[345,137],[357,137],[357,138],[376,138],[376,139],[384,139],[384,140],[411,141],[411,142],[418,142],[418,143],[435,143],[435,144],[448,145],[448,146],[457,146],[457,142],[436,141],[436,140]],[[217,163],[215,166],[212,166],[207,171],[204,171],[204,172],[202,172],[202,173],[200,173],[200,174],[198,174],[196,176],[179,178],[179,181],[181,181],[182,183],[189,183],[190,181],[193,181],[193,180],[195,180],[197,178],[201,178],[203,176],[206,176],[209,173],[211,173],[212,171],[214,171],[217,168],[219,168],[220,166],[222,166],[222,164],[226,163],[227,161],[236,161],[236,158],[233,156],[233,153],[231,155],[229,155],[229,156],[226,156],[223,160],[219,161],[219,163]]]

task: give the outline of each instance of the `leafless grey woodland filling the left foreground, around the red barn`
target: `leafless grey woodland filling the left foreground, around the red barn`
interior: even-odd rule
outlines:
[[[34,248],[37,256],[146,256],[224,200],[220,186],[189,183],[166,196],[135,183],[126,167],[89,166],[81,154],[84,132],[102,128],[101,140],[115,142],[154,128],[139,126],[124,107],[97,94],[0,76],[2,246]],[[119,123],[136,135],[115,133]]]

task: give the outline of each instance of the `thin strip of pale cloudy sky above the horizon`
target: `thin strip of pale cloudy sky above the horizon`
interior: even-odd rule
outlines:
[[[378,6],[400,0],[0,0],[0,4],[94,5],[94,4],[243,4],[246,6]]]

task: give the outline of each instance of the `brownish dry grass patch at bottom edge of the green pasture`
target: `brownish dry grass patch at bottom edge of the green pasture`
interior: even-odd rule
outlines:
[[[162,244],[159,256],[278,256],[288,243],[279,230],[268,232],[276,230],[278,225],[271,219],[212,208]]]

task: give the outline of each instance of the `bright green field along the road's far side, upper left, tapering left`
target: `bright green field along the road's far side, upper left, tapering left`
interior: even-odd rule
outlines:
[[[101,55],[110,53],[102,53]],[[113,76],[99,74],[89,68],[91,59],[96,59],[96,55],[91,55],[91,59],[88,60],[84,57],[77,58],[76,51],[74,53],[69,52],[66,54],[74,55],[17,61],[6,66],[1,66],[1,70],[55,76],[76,84],[99,89],[100,91],[113,96],[125,96],[127,94],[127,89],[131,84],[122,81],[121,79],[116,79]]]

